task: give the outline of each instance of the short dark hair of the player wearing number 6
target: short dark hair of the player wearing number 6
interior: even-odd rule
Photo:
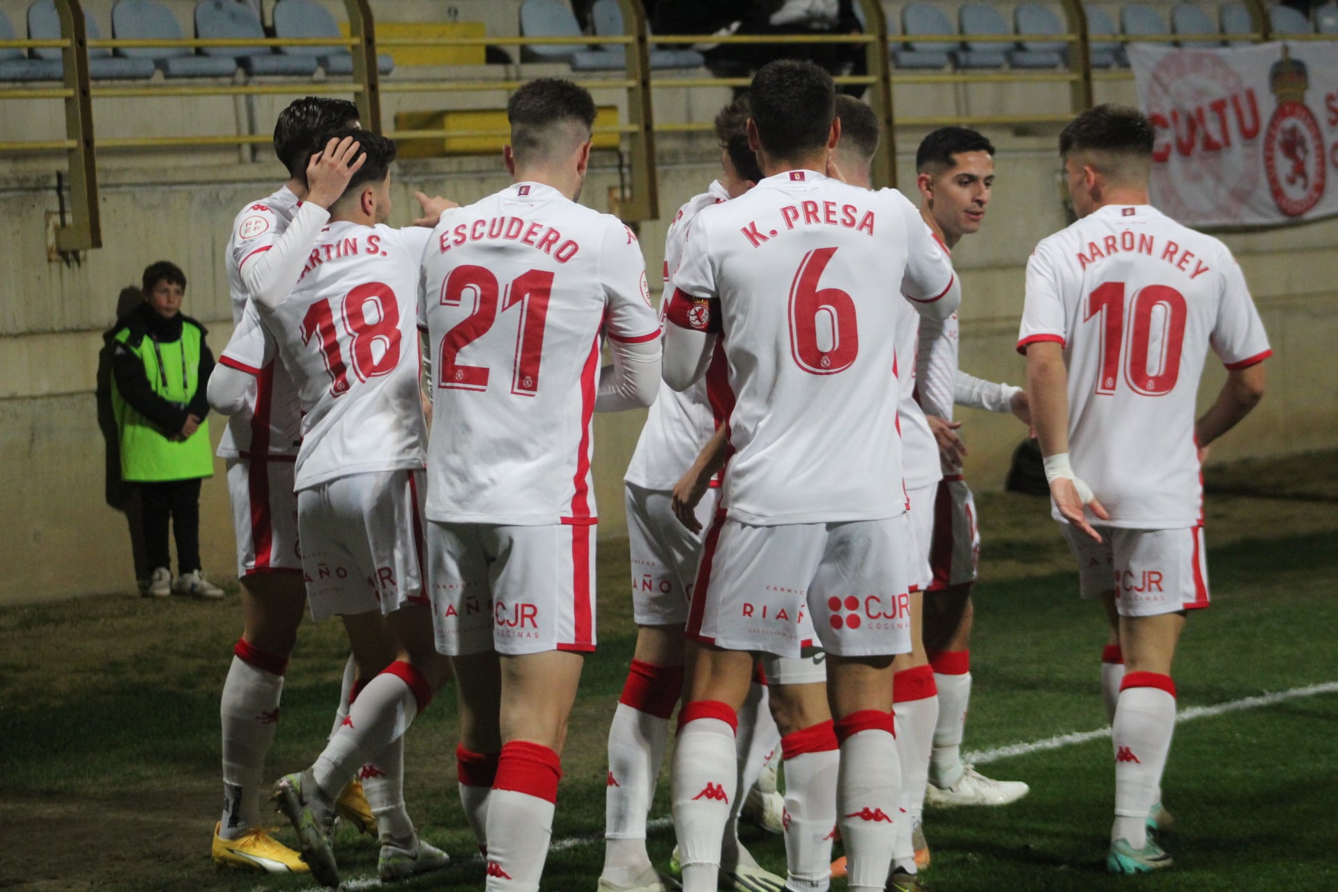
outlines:
[[[761,147],[792,160],[827,146],[836,88],[832,76],[814,63],[777,59],[753,75],[748,104]]]

